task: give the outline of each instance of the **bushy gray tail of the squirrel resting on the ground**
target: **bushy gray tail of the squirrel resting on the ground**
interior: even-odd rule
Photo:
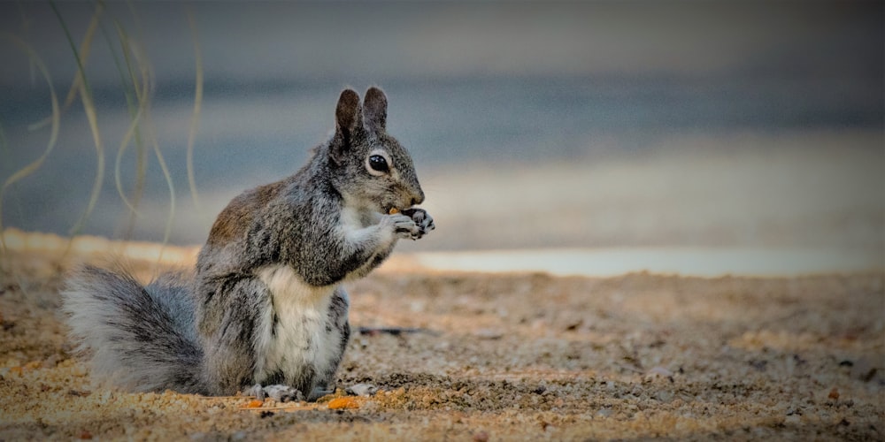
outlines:
[[[126,271],[87,266],[73,274],[62,309],[92,376],[139,392],[204,393],[188,290],[173,275],[142,287]]]

